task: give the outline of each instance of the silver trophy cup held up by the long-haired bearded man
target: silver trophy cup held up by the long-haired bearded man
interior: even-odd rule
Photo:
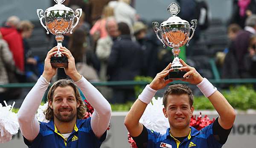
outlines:
[[[58,52],[51,57],[51,64],[54,68],[67,67],[67,57],[60,52],[64,36],[68,33],[72,34],[72,30],[76,27],[82,15],[82,9],[76,9],[76,15],[72,9],[64,6],[62,3],[65,0],[54,0],[57,4],[49,7],[44,12],[42,9],[37,9],[37,14],[41,25],[47,30],[47,34],[51,32],[55,35],[57,41]],[[42,14],[44,12],[44,15]],[[76,17],[76,23],[74,18]],[[43,23],[45,19],[45,25]]]

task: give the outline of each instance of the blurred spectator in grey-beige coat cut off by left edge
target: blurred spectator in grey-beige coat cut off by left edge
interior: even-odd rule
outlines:
[[[2,39],[0,33],[0,84],[8,84],[9,77],[7,69],[15,69],[15,62],[12,58],[12,52],[10,52],[8,44]],[[12,99],[10,98],[10,93],[6,88],[0,88],[0,103],[3,104],[4,100]]]

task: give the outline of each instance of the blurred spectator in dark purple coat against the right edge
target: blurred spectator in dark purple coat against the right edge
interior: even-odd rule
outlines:
[[[229,47],[230,54],[233,53],[233,60],[226,60],[224,64],[232,64],[224,73],[224,78],[246,78],[244,56],[248,53],[249,40],[252,35],[256,34],[256,15],[247,18],[244,30],[238,32],[236,38],[231,42]],[[232,72],[232,73],[231,73]]]

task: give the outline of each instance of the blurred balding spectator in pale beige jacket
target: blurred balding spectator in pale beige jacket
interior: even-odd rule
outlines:
[[[101,81],[107,81],[108,58],[111,53],[113,41],[115,41],[118,36],[117,23],[114,17],[109,17],[106,20],[106,30],[108,32],[108,36],[100,38],[97,41],[96,46],[96,55],[101,63],[99,71],[99,78]]]

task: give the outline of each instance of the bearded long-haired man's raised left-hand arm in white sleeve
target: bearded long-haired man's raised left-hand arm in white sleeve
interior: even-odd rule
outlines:
[[[56,74],[56,69],[52,68],[50,58],[54,55],[57,48],[52,48],[45,59],[44,73],[36,82],[35,86],[29,91],[20,110],[18,111],[18,122],[23,136],[32,142],[39,133],[39,122],[35,117],[39,105],[43,99],[44,93],[49,86],[49,81]]]

